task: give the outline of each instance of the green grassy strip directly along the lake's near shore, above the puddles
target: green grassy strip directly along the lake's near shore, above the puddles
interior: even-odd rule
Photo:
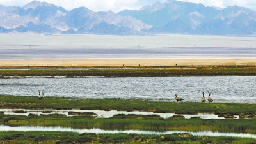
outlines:
[[[238,103],[177,103],[177,102],[154,102],[133,101],[125,99],[67,99],[28,96],[1,96],[0,108],[24,108],[24,109],[54,109],[54,110],[123,110],[144,111],[157,113],[216,113],[239,115],[242,113],[255,113],[256,104]],[[255,114],[254,114],[255,115]]]

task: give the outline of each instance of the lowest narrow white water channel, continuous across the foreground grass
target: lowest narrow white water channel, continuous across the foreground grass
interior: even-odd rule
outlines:
[[[127,134],[173,134],[173,133],[190,133],[193,136],[227,136],[227,137],[237,137],[237,138],[256,138],[255,134],[243,134],[243,133],[219,133],[212,131],[141,131],[141,130],[102,130],[102,129],[72,129],[72,128],[63,128],[63,127],[42,127],[42,126],[20,126],[20,127],[10,127],[0,125],[0,131],[59,131],[59,132],[71,132],[71,133],[95,133],[95,134],[118,134],[118,133],[127,133]]]

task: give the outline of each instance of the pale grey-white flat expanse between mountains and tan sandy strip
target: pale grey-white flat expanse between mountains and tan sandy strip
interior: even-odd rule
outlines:
[[[0,59],[256,58],[256,38],[0,34]]]

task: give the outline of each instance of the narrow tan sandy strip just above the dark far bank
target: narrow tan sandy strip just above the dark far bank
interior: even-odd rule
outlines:
[[[65,66],[65,67],[93,67],[93,66],[208,66],[208,65],[244,65],[256,66],[256,58],[217,58],[217,59],[26,59],[0,60],[0,67],[26,66]]]

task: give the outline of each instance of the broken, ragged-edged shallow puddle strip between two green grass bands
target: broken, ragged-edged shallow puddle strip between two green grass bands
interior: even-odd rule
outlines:
[[[15,113],[15,111],[24,111],[26,113]],[[104,110],[24,110],[24,109],[1,109],[0,112],[4,112],[4,115],[26,115],[34,114],[34,115],[52,115],[52,114],[60,114],[60,115],[66,115],[67,117],[72,117],[76,115],[69,115],[68,112],[92,112],[95,113],[95,117],[99,118],[109,118],[113,117],[113,115],[118,114],[125,114],[125,115],[159,115],[160,117],[167,119],[170,117],[173,117],[173,115],[177,115],[175,113],[153,113],[153,112],[126,112],[126,111],[117,111],[117,110],[111,110],[111,111],[104,111]],[[49,113],[45,113],[49,112]],[[199,117],[201,119],[225,119],[224,117],[218,117],[218,115],[215,115],[214,113],[198,113],[197,115],[182,115],[185,117],[185,119],[190,119],[191,117]],[[236,115],[236,119],[239,119],[239,116]]]

